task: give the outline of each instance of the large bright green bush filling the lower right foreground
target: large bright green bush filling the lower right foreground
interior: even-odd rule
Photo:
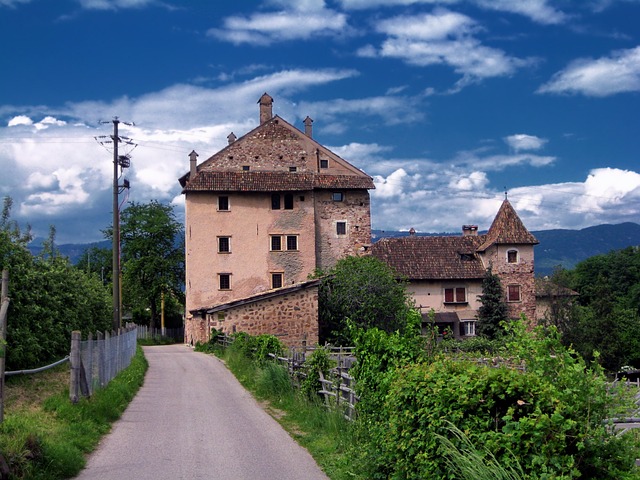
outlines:
[[[555,331],[507,330],[506,360],[495,367],[440,356],[387,376],[377,417],[368,417],[372,478],[459,478],[440,441],[464,446],[451,424],[526,478],[629,478],[635,452],[604,424],[613,398],[603,372],[562,347]]]

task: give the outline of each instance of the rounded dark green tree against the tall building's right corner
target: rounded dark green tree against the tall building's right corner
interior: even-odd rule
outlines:
[[[320,341],[351,343],[347,319],[359,328],[402,329],[410,310],[406,282],[372,256],[347,257],[324,273],[320,285]]]

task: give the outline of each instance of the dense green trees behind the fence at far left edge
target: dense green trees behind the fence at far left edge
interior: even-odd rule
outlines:
[[[30,233],[21,233],[10,219],[11,205],[5,199],[0,221],[0,270],[8,269],[11,279],[7,368],[24,369],[67,355],[72,330],[109,328],[111,302],[97,279],[58,254],[55,228],[33,257],[27,249]]]

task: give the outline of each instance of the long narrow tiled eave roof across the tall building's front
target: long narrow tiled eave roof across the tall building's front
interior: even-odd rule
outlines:
[[[200,171],[183,192],[275,192],[314,189],[372,189],[370,177],[269,171]]]

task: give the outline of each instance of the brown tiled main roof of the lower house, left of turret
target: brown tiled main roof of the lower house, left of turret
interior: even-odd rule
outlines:
[[[383,238],[371,253],[409,280],[479,279],[485,269],[475,252],[484,240],[484,235]]]

